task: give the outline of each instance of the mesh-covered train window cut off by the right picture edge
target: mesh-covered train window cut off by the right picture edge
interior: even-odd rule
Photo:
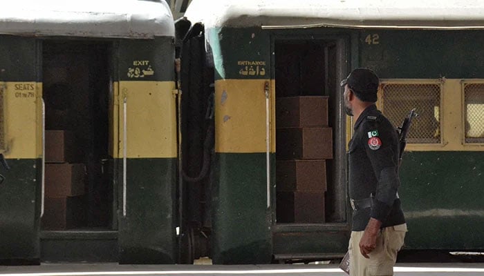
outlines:
[[[465,143],[484,143],[484,83],[463,82]]]

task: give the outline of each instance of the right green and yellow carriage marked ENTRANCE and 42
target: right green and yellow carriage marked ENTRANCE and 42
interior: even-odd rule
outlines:
[[[201,184],[211,206],[200,215],[182,204],[183,215],[200,219],[185,230],[192,237],[211,233],[216,264],[342,257],[351,229],[346,144],[352,121],[342,109],[339,81],[351,68],[369,67],[382,79],[378,106],[395,126],[412,108],[420,115],[400,168],[405,248],[482,250],[483,8],[472,1],[192,1],[186,18],[176,22],[183,99],[198,95],[207,108],[212,81],[184,88],[183,76],[193,81],[213,73],[214,158]],[[195,61],[196,69],[189,66]],[[328,101],[331,136],[310,140],[331,141],[326,192],[310,205],[323,210],[321,221],[283,217],[286,205],[294,204],[278,190],[287,143],[278,131],[283,115],[277,102],[284,97]],[[207,129],[202,124],[196,131]],[[189,185],[187,191],[197,193]]]

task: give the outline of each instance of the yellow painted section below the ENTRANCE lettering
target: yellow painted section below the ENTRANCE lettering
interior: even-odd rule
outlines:
[[[267,79],[215,81],[216,152],[266,152]],[[270,81],[270,152],[275,152],[275,95]]]

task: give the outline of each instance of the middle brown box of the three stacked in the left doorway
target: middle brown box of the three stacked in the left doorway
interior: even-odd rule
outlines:
[[[84,195],[84,164],[46,164],[46,197]]]

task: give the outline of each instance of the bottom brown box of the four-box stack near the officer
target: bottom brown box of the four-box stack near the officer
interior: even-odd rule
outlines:
[[[324,222],[324,193],[278,192],[276,197],[277,222]]]

